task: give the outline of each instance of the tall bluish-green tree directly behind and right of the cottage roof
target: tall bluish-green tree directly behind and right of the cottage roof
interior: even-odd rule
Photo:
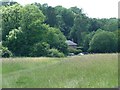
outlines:
[[[74,25],[70,32],[70,38],[74,40],[77,44],[81,45],[82,42],[82,32],[87,32],[89,28],[88,17],[84,14],[76,15],[74,19]]]

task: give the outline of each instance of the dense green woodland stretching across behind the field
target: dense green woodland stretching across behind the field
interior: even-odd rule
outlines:
[[[40,3],[4,3],[0,12],[3,57],[64,57],[69,52],[120,51],[117,18],[89,18],[76,6],[67,9]],[[66,40],[74,41],[78,48],[69,49]]]

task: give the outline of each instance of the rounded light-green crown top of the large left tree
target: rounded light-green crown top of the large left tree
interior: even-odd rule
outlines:
[[[21,10],[22,20],[21,24],[24,29],[31,28],[33,25],[38,26],[45,20],[45,16],[42,11],[35,5],[26,5]],[[27,27],[25,27],[27,26]]]

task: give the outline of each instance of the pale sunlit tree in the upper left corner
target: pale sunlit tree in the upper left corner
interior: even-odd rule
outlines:
[[[6,35],[12,29],[18,29],[21,20],[21,10],[22,6],[15,4],[12,6],[1,7],[2,11],[2,40],[6,40]]]

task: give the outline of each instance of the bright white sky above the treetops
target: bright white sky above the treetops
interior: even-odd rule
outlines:
[[[118,17],[119,0],[13,0],[22,5],[39,2],[48,3],[49,6],[62,5],[70,8],[77,6],[82,8],[83,12],[91,18],[112,18]]]

